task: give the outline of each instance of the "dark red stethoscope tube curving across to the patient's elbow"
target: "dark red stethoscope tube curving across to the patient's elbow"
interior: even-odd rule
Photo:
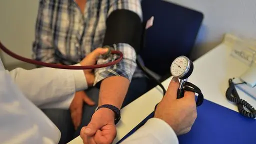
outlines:
[[[123,54],[122,54],[121,51],[112,50],[111,54],[118,54],[119,55],[119,58],[114,60],[114,61],[103,63],[103,64],[95,64],[95,65],[73,66],[73,65],[60,65],[60,64],[54,64],[54,63],[47,63],[47,62],[42,62],[42,61],[37,61],[37,60],[25,58],[25,57],[22,57],[18,54],[15,54],[14,52],[7,49],[1,42],[0,42],[0,49],[2,49],[2,51],[4,51],[6,54],[8,54],[11,57],[16,58],[18,60],[21,60],[21,61],[24,61],[24,62],[27,62],[27,63],[31,63],[31,64],[35,64],[35,65],[41,65],[41,66],[52,67],[52,68],[60,68],[60,69],[95,69],[95,68],[102,68],[102,67],[107,67],[107,66],[114,65],[114,64],[120,62],[123,58]]]

